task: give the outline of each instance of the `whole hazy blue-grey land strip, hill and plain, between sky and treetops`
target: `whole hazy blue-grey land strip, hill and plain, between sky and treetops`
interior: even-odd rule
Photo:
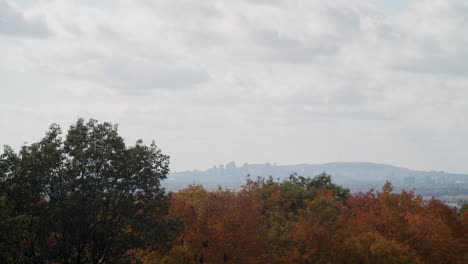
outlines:
[[[453,174],[444,171],[418,171],[387,164],[370,162],[334,162],[325,164],[242,164],[229,162],[207,170],[172,172],[163,182],[170,191],[177,191],[189,184],[202,184],[209,189],[218,186],[239,189],[247,176],[285,179],[293,173],[313,177],[322,172],[330,174],[334,182],[350,188],[352,192],[379,188],[386,181],[397,190],[414,189],[424,197],[439,197],[449,203],[468,199],[468,174]]]

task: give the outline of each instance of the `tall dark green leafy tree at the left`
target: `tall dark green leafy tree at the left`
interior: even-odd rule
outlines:
[[[169,157],[154,142],[126,146],[117,125],[79,119],[62,137],[53,124],[18,154],[6,147],[0,172],[14,212],[32,216],[30,262],[130,262],[131,249],[167,249],[181,227],[160,186]]]

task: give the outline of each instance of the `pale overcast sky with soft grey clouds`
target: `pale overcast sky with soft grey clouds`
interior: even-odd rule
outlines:
[[[173,171],[468,173],[468,1],[0,0],[0,145],[79,117]]]

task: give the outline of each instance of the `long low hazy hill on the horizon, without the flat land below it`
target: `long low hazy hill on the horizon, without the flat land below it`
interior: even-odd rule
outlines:
[[[243,164],[234,162],[215,166],[208,170],[173,172],[167,183],[196,184],[237,184],[244,183],[246,176],[252,178],[272,176],[284,179],[292,173],[302,176],[315,176],[322,172],[332,175],[338,184],[345,185],[381,185],[391,181],[394,185],[457,185],[467,186],[467,174],[450,174],[443,171],[417,171],[387,164],[370,162],[333,162],[325,164]]]

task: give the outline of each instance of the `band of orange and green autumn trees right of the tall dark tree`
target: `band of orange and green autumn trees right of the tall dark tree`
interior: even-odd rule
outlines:
[[[350,195],[330,176],[248,180],[239,191],[189,186],[172,196],[185,225],[144,263],[467,263],[468,212],[412,191]]]

